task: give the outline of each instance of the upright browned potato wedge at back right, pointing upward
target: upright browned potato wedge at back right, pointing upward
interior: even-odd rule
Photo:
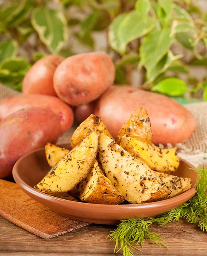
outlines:
[[[150,117],[145,108],[138,108],[124,123],[116,137],[116,143],[118,145],[121,143],[124,135],[137,138],[150,145],[152,144]]]

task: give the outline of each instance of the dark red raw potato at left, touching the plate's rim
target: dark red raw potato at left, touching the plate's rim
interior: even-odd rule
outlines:
[[[0,122],[0,178],[9,177],[23,155],[55,144],[60,136],[60,118],[46,108],[25,108]],[[32,168],[32,166],[31,166]]]

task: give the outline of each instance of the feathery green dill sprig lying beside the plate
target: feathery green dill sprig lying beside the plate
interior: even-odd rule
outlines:
[[[156,218],[121,221],[117,229],[108,236],[111,241],[115,241],[114,252],[120,247],[119,250],[122,249],[124,256],[133,256],[135,249],[140,250],[136,245],[140,244],[143,247],[143,242],[147,240],[159,247],[167,247],[159,234],[150,232],[149,227],[152,223],[163,226],[168,222],[184,219],[189,223],[198,224],[202,231],[207,232],[207,195],[205,194],[207,190],[207,169],[195,169],[195,171],[199,177],[196,182],[196,194],[193,198]]]

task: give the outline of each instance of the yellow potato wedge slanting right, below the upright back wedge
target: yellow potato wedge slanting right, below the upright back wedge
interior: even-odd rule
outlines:
[[[121,147],[132,154],[135,158],[146,163],[152,170],[172,174],[180,164],[176,154],[177,148],[161,149],[144,143],[141,140],[124,136],[120,143]]]

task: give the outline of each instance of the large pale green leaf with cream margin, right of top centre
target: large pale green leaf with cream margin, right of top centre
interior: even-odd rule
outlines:
[[[141,17],[136,11],[121,14],[109,26],[109,44],[124,54],[126,45],[150,32],[155,26],[151,17]]]

